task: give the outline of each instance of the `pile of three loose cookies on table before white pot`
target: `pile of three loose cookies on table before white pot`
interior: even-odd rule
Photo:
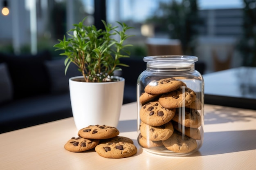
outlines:
[[[105,158],[125,158],[135,155],[137,148],[128,137],[120,137],[119,130],[111,126],[88,126],[78,132],[64,145],[70,152],[83,152],[90,149]]]

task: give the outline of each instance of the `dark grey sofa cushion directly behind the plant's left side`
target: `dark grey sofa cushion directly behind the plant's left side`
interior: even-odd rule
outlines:
[[[68,92],[68,79],[81,75],[81,72],[77,70],[77,66],[73,63],[70,64],[67,69],[67,74],[65,75],[64,60],[65,58],[45,62],[50,77],[50,91],[53,94]]]

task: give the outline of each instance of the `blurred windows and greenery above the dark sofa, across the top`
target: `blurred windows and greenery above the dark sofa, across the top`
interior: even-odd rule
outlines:
[[[131,57],[195,55],[204,73],[256,66],[256,0],[0,0],[0,9],[3,53],[59,57],[53,45],[88,16],[98,28],[134,27]]]

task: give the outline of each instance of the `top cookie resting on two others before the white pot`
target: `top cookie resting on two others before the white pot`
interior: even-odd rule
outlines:
[[[108,139],[119,135],[119,130],[112,126],[90,125],[80,129],[78,135],[87,139]]]

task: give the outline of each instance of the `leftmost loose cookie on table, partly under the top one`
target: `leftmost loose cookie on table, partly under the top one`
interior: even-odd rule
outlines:
[[[84,139],[82,137],[72,137],[64,145],[64,148],[70,152],[83,152],[90,150],[99,144],[99,139]]]

